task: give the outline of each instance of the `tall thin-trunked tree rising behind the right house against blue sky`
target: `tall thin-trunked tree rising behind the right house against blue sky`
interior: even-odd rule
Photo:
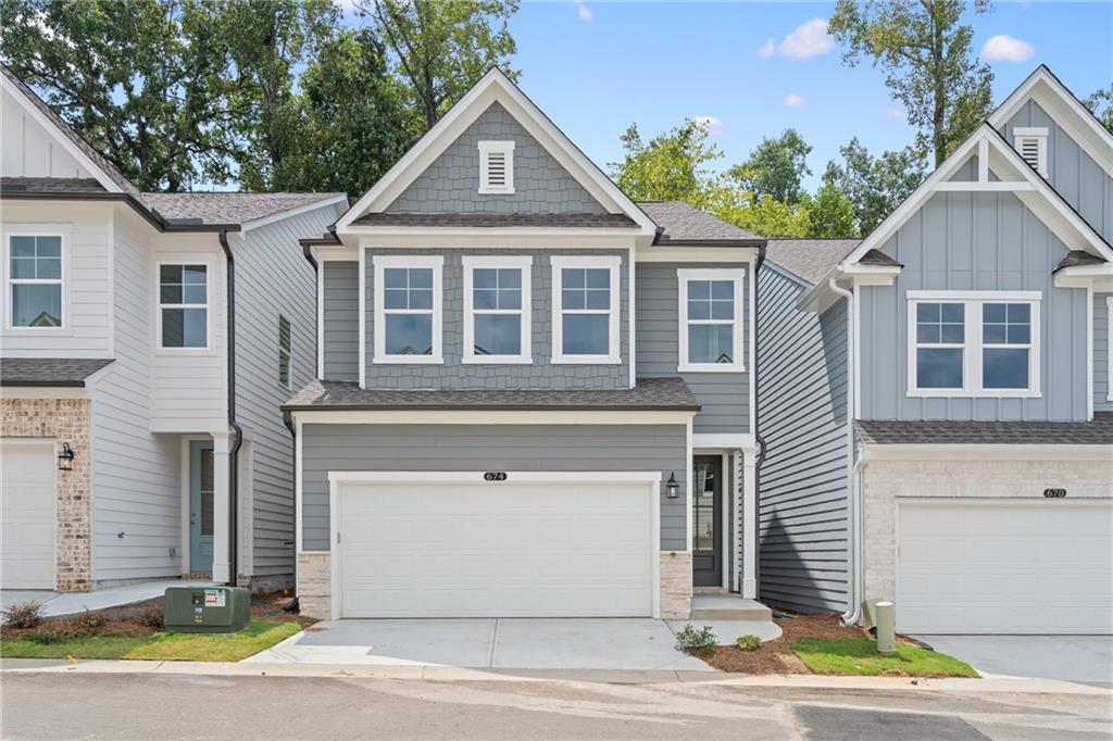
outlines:
[[[973,29],[962,22],[966,8],[964,0],[838,0],[828,23],[846,63],[868,57],[885,71],[936,167],[992,105],[993,72],[974,55]],[[974,0],[973,9],[987,11],[989,0]]]

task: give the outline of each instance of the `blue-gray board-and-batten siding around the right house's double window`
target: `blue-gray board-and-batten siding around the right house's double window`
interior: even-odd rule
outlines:
[[[893,286],[860,289],[861,418],[1086,418],[1086,293],[1056,288],[1065,245],[1013,194],[939,192],[883,247],[905,267]],[[907,396],[906,292],[1038,290],[1038,398]]]

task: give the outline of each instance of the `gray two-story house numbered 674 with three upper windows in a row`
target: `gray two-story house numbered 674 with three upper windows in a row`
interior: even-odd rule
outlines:
[[[755,597],[765,241],[632,202],[490,71],[323,236],[295,434],[318,618]],[[740,602],[741,603],[741,602]]]

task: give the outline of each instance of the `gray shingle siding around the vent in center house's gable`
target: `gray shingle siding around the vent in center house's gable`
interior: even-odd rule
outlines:
[[[481,140],[514,142],[514,192],[480,194]],[[604,214],[605,209],[499,103],[449,145],[387,211]]]

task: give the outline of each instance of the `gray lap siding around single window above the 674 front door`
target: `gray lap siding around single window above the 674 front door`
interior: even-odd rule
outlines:
[[[680,376],[703,407],[692,423],[696,433],[747,433],[750,431],[749,294],[742,296],[742,349],[747,369],[740,373],[679,373],[680,296],[678,268],[735,268],[739,265],[641,264],[637,267],[634,297],[634,330],[637,368],[641,377]],[[750,266],[747,265],[749,270]],[[749,274],[745,284],[749,292]]]

